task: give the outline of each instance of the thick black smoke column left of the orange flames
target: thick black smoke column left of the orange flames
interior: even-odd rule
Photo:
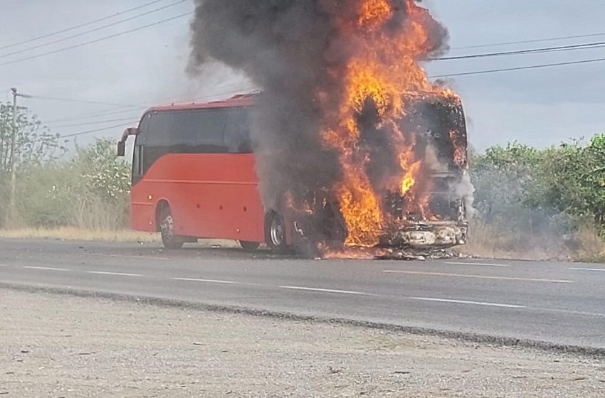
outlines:
[[[317,3],[196,1],[190,70],[216,59],[263,87],[253,141],[266,208],[277,208],[285,190],[304,193],[339,174],[335,156],[322,150],[315,103],[318,87],[340,88],[325,59],[334,29]]]

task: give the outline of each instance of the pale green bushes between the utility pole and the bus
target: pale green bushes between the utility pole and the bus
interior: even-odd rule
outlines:
[[[78,148],[71,161],[21,171],[18,202],[23,224],[92,230],[127,226],[130,167],[116,158],[114,146],[100,139]]]

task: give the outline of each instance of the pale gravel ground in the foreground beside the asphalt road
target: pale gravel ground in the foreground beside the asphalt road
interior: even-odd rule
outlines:
[[[0,290],[0,397],[605,397],[605,360]]]

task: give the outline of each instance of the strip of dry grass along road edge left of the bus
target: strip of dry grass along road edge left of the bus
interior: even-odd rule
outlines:
[[[19,228],[0,230],[0,237],[22,239],[83,240],[96,242],[159,242],[159,235],[132,230],[87,230],[77,227]]]

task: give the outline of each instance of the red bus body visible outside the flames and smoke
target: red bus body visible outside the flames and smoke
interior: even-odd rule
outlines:
[[[170,249],[199,238],[236,240],[244,249],[266,243],[278,253],[299,244],[293,242],[298,237],[295,222],[284,220],[274,210],[265,211],[261,203],[250,138],[253,102],[253,95],[240,95],[206,104],[153,107],[144,112],[138,127],[124,132],[118,143],[120,156],[125,154],[128,136],[135,136],[134,230],[160,232],[164,246]],[[433,142],[445,143],[439,144],[440,153],[449,162],[445,173],[433,175],[434,185],[443,187],[431,194],[431,206],[440,219],[411,222],[384,242],[451,247],[466,239],[464,200],[453,198],[448,189],[451,181],[461,179],[466,167],[464,115],[459,102],[453,107],[422,102],[419,112],[436,114],[428,118],[433,125],[423,126],[412,114],[409,128],[417,129],[418,134],[433,134]],[[462,143],[464,164],[454,161],[461,156],[460,146],[456,149],[450,139],[454,127],[461,133],[458,144]]]

